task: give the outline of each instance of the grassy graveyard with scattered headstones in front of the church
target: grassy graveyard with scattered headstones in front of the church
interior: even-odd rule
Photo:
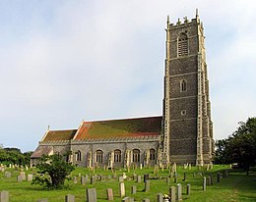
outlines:
[[[0,202],[255,201],[256,171],[229,166],[170,165],[167,168],[107,170],[76,168],[67,188],[32,185],[35,168],[1,166]]]

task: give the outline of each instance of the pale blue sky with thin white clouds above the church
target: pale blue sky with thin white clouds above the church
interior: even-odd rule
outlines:
[[[0,0],[0,144],[23,152],[50,129],[159,116],[165,25],[206,36],[215,139],[256,115],[253,0]]]

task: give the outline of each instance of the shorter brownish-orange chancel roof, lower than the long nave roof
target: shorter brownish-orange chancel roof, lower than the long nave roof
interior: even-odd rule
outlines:
[[[70,140],[76,134],[77,129],[67,129],[67,130],[49,130],[42,138],[44,141],[59,141],[59,140]]]

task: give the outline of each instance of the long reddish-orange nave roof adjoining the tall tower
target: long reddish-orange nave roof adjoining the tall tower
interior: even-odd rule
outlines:
[[[159,135],[162,117],[83,122],[74,139]]]

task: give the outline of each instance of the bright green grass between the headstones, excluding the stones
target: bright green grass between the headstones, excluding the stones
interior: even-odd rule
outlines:
[[[178,178],[177,182],[182,184],[183,187],[183,200],[184,201],[256,201],[256,172],[250,173],[249,176],[246,176],[244,172],[241,171],[231,171],[228,177],[224,177],[221,179],[221,182],[217,182],[217,173],[226,169],[226,166],[215,166],[214,169],[210,171],[206,171],[205,169],[201,169],[198,171],[196,167],[193,167],[192,170],[184,170],[181,167],[178,167],[177,173]],[[153,173],[154,169],[143,169],[136,170],[135,173],[137,175],[142,176],[142,182],[138,183],[133,180],[132,176],[134,171],[130,171],[130,173],[126,173],[125,171],[116,171],[117,176],[121,176],[123,172],[126,173],[128,177],[125,180],[125,188],[126,195],[132,196],[136,201],[142,201],[143,198],[149,198],[151,201],[157,201],[158,193],[168,193],[168,189],[170,186],[176,185],[174,183],[174,178],[170,178],[170,183],[166,184],[166,178],[169,175],[168,170],[164,170],[163,172],[160,170],[156,175]],[[7,190],[10,193],[10,202],[35,202],[37,199],[47,198],[49,202],[56,201],[65,201],[66,194],[74,194],[76,197],[76,202],[86,201],[86,188],[96,187],[97,201],[106,201],[106,188],[112,188],[114,194],[114,201],[121,201],[119,197],[119,182],[117,178],[104,179],[103,181],[96,181],[96,184],[87,183],[86,185],[82,185],[80,180],[77,184],[73,183],[73,180],[67,181],[69,184],[69,189],[64,190],[54,190],[48,191],[46,189],[42,189],[38,185],[32,185],[31,182],[22,181],[17,182],[16,177],[18,176],[18,172],[14,170],[9,170],[12,173],[12,177],[3,177],[0,175],[0,190]],[[35,173],[35,171],[28,171],[27,173]],[[186,173],[186,181],[183,181],[183,173]],[[195,175],[193,175],[195,173]],[[206,191],[203,191],[203,176],[206,177],[213,174],[214,184],[212,186],[207,186]],[[91,171],[88,169],[77,168],[72,176],[78,176],[81,174],[85,175],[93,175]],[[150,174],[150,183],[151,190],[150,192],[144,192],[144,183],[143,183],[143,175]],[[202,175],[201,175],[202,174]],[[102,171],[96,170],[95,175],[103,175],[113,176],[111,171]],[[162,177],[162,179],[160,179]],[[79,177],[78,177],[79,178]],[[190,196],[186,195],[186,184],[191,184],[191,193]],[[131,186],[137,186],[137,193],[131,195]]]

